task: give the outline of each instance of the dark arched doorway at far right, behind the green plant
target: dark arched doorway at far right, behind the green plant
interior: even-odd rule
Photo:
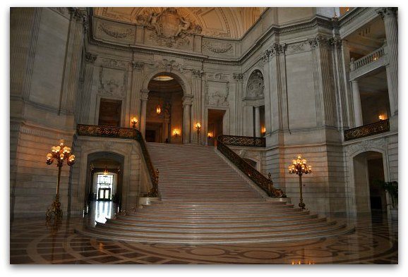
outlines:
[[[385,180],[383,154],[363,152],[354,157],[353,166],[357,215],[386,214],[385,190],[376,183],[377,180]]]

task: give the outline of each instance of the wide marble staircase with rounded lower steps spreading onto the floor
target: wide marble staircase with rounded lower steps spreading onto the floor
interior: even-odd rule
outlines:
[[[330,238],[353,230],[255,190],[215,147],[148,143],[148,151],[160,171],[161,201],[78,233],[109,240],[211,245]]]

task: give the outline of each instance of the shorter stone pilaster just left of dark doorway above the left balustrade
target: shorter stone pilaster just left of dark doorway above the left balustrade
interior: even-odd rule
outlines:
[[[89,121],[89,107],[90,107],[90,97],[92,94],[92,80],[93,80],[93,67],[97,55],[86,53],[85,54],[85,70],[84,70],[84,80],[82,87],[82,97],[80,98],[80,116],[78,118],[78,123],[80,124],[90,124]]]

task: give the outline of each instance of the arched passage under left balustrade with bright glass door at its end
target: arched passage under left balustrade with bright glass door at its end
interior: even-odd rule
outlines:
[[[95,152],[88,155],[85,196],[86,213],[92,212],[95,221],[104,222],[120,210],[124,156],[113,152]]]

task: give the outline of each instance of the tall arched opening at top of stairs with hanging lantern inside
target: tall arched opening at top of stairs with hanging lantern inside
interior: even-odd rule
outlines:
[[[182,143],[183,88],[175,75],[159,73],[148,84],[145,140]]]

